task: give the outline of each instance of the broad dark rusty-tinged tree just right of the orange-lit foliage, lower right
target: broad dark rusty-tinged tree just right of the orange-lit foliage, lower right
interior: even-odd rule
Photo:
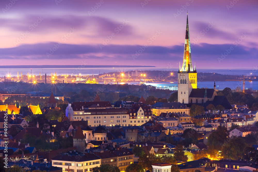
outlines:
[[[238,160],[242,157],[246,147],[245,140],[241,137],[232,137],[229,142],[225,142],[221,149],[224,158]]]

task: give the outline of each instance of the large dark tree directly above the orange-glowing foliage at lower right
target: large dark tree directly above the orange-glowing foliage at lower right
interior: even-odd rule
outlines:
[[[217,130],[209,135],[207,145],[213,145],[215,150],[220,150],[224,142],[229,141],[228,136],[229,132],[227,128],[218,126]]]

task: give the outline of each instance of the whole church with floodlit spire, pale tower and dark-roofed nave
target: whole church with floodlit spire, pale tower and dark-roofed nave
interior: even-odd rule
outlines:
[[[216,102],[214,102],[216,101]],[[192,66],[190,34],[188,26],[188,13],[186,21],[186,38],[184,45],[184,58],[181,67],[179,63],[178,70],[178,102],[184,104],[202,104],[207,103],[223,105],[226,109],[230,108],[230,103],[225,96],[218,96],[214,81],[214,88],[197,88],[197,70]],[[206,103],[207,102],[207,103]],[[223,104],[221,102],[224,102]],[[206,107],[206,106],[205,106]]]

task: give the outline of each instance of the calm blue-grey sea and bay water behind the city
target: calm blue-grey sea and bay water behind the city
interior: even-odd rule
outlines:
[[[86,76],[86,75],[99,75],[100,73],[109,73],[109,72],[128,72],[132,70],[161,70],[161,71],[177,71],[178,69],[167,69],[162,67],[127,67],[127,68],[38,68],[38,69],[0,69],[0,77],[3,76],[17,76],[17,73],[19,76],[27,75],[27,73],[32,75],[39,75],[39,72],[41,75],[51,75],[56,73],[57,75],[79,75],[80,76]],[[197,72],[211,72],[211,73],[220,73],[222,75],[247,75],[247,76],[254,76],[255,72],[257,72],[257,69],[198,69]],[[258,72],[257,72],[258,73]],[[122,83],[123,84],[123,83]],[[141,83],[128,83],[128,84],[141,84]],[[157,87],[164,87],[164,86],[177,86],[177,82],[160,82],[160,83],[144,83],[146,85],[152,85]],[[213,88],[214,82],[213,81],[203,81],[198,82],[197,86],[200,88]],[[239,81],[217,81],[216,82],[216,89],[224,89],[225,87],[229,87],[231,89],[236,89],[236,87],[243,87],[243,82]],[[252,88],[254,90],[258,90],[258,82],[252,81],[245,81],[245,88]]]

